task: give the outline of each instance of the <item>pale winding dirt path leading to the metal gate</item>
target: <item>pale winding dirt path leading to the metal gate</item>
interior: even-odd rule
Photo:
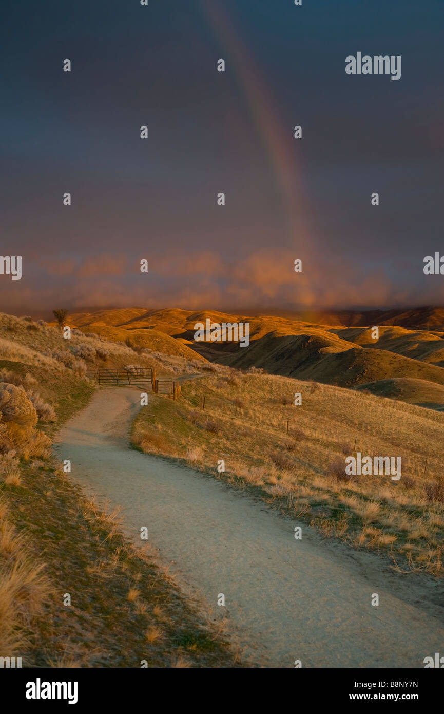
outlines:
[[[405,585],[383,573],[376,556],[332,547],[243,491],[130,450],[139,400],[135,388],[96,393],[61,431],[57,455],[71,460],[71,476],[86,491],[123,507],[136,543],[141,526],[148,528],[161,559],[173,561],[178,584],[213,620],[228,619],[245,658],[277,667],[294,660],[303,667],[423,667],[426,656],[444,654],[442,610],[420,605],[415,575]],[[297,525],[302,540],[294,538]]]

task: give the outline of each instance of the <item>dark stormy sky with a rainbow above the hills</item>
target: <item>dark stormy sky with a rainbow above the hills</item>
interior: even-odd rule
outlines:
[[[22,276],[0,311],[443,305],[443,21],[442,0],[2,0]],[[358,52],[400,79],[345,74]]]

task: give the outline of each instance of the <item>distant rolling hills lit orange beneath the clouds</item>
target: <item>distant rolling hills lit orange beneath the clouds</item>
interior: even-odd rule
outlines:
[[[381,380],[380,393],[386,381],[395,378],[423,380],[424,392],[430,391],[429,383],[444,383],[444,332],[438,330],[444,323],[441,308],[299,316],[311,322],[295,317],[128,308],[79,313],[71,321],[115,341],[129,340],[139,348],[149,346],[190,360],[194,355],[233,368],[254,366],[271,374],[346,387]],[[403,326],[393,326],[397,318]],[[207,319],[211,323],[247,322],[250,345],[194,341],[196,323]],[[378,340],[372,338],[373,325],[379,326]],[[425,325],[435,331],[418,329]],[[417,401],[432,403],[425,393]]]

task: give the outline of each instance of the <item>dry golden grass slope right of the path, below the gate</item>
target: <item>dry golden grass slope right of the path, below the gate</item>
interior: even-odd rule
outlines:
[[[294,406],[296,393],[302,405]],[[205,396],[205,408],[201,408]],[[155,397],[133,426],[143,451],[248,488],[328,537],[443,575],[444,414],[366,393],[228,370]],[[402,476],[344,476],[345,456],[400,456]],[[225,472],[218,473],[218,461]]]

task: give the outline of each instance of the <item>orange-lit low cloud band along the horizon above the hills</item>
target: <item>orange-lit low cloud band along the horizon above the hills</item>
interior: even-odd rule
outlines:
[[[20,282],[0,277],[1,304],[21,312],[66,306],[181,307],[243,310],[258,306],[279,308],[353,308],[405,306],[418,303],[415,290],[397,290],[383,271],[363,272],[343,258],[309,256],[302,272],[295,273],[296,253],[288,249],[258,250],[240,261],[186,248],[149,253],[148,273],[141,273],[138,258],[121,255],[89,258],[80,265],[66,259],[45,263],[46,281],[26,268]],[[41,269],[41,268],[40,268]],[[418,266],[421,270],[421,266]],[[49,275],[49,277],[48,277]],[[410,273],[405,267],[405,276]],[[35,278],[35,283],[34,283]],[[39,283],[44,287],[39,287]],[[423,280],[420,303],[443,297],[437,282]]]

